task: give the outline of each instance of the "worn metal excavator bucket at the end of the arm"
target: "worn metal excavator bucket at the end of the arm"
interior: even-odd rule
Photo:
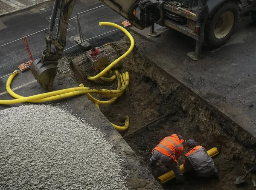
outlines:
[[[53,90],[53,81],[58,71],[58,67],[54,63],[46,65],[41,62],[41,58],[38,58],[32,62],[30,70],[43,88],[48,91]]]

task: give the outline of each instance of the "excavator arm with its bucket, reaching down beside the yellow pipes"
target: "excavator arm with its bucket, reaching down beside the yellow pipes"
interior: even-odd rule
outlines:
[[[35,79],[45,89],[52,91],[53,81],[58,71],[58,60],[66,45],[67,27],[76,0],[55,0],[49,24],[49,34],[45,37],[46,49],[42,57],[34,60],[30,67]],[[53,34],[55,19],[60,10],[57,34]]]

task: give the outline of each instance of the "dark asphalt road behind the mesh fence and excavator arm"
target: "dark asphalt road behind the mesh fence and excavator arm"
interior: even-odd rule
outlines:
[[[53,1],[50,1],[32,7],[31,9],[25,9],[17,13],[1,17],[0,45],[19,39],[20,37],[23,37],[23,35],[27,36],[48,28],[52,13],[52,6]],[[77,13],[93,9],[98,6],[102,6],[102,3],[99,3],[98,0],[77,0],[71,18],[76,17]],[[121,24],[124,19],[107,6],[103,6],[99,9],[94,9],[92,11],[79,14],[79,20],[84,38],[89,39],[116,29],[108,26],[99,26],[99,22],[108,21]],[[58,17],[55,24],[58,24]],[[44,37],[47,35],[47,32],[47,30],[44,30],[27,37],[27,42],[34,59],[41,57],[41,52],[45,49],[46,43]],[[66,38],[67,43],[64,49],[70,48],[76,44],[73,40],[76,36],[79,36],[79,29],[76,19],[72,19],[69,21]],[[121,31],[116,31],[114,35],[104,35],[88,42],[92,46],[99,46],[110,41],[118,40],[122,36],[123,34]],[[82,52],[81,48],[76,46],[68,51],[65,51],[64,53],[76,54],[80,52]],[[23,39],[0,47],[0,76],[14,71],[17,69],[18,65],[23,62],[27,62],[28,60],[30,60],[29,54],[27,53]]]

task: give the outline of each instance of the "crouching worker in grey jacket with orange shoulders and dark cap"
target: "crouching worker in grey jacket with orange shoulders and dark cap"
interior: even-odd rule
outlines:
[[[218,170],[207,151],[202,146],[196,146],[192,139],[186,140],[189,152],[185,154],[184,168],[193,169],[199,177],[215,175],[218,178]]]

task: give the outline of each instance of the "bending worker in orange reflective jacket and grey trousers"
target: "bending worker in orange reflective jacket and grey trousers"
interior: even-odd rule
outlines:
[[[178,182],[184,181],[180,165],[177,162],[183,151],[183,142],[184,140],[180,135],[172,134],[171,136],[167,136],[152,150],[152,156],[150,158],[151,166],[154,166],[157,160],[160,160],[169,167],[174,172]]]

